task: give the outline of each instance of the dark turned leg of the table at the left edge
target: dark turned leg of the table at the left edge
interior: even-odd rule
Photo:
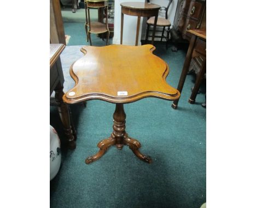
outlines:
[[[68,148],[75,149],[76,144],[75,144],[75,138],[73,136],[73,131],[71,127],[69,109],[68,109],[68,106],[62,100],[62,96],[64,95],[63,85],[61,85],[61,83],[58,83],[54,91],[55,91],[55,100],[58,104],[58,111],[60,114],[61,122],[63,124],[64,131],[68,140]]]

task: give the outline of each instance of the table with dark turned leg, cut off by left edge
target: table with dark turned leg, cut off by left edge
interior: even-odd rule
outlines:
[[[64,76],[61,66],[60,54],[66,46],[63,44],[50,44],[50,96],[55,91],[55,100],[57,102],[60,118],[64,127],[65,135],[68,139],[68,148],[75,149],[75,130],[71,125],[68,106],[63,102],[62,96]]]

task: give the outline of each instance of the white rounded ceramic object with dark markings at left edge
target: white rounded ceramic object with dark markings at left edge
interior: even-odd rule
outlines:
[[[53,179],[59,172],[60,164],[60,138],[54,127],[50,125],[50,180]]]

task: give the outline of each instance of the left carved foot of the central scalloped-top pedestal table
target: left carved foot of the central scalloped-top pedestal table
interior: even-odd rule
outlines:
[[[86,164],[90,164],[98,159],[100,159],[105,152],[108,150],[109,146],[114,145],[115,144],[115,139],[113,139],[112,137],[109,137],[108,139],[103,139],[101,140],[101,142],[98,143],[98,148],[100,148],[100,150],[93,156],[89,156],[86,158],[85,163]]]

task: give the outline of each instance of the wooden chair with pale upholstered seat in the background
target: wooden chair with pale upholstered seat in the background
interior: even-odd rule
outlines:
[[[158,16],[158,21],[156,22],[156,27],[163,27],[162,30],[155,30],[155,32],[162,32],[162,35],[159,36],[159,35],[155,35],[155,38],[161,38],[161,41],[162,41],[162,38],[165,38],[166,39],[166,49],[167,49],[167,46],[168,46],[168,41],[169,41],[169,37],[170,37],[170,27],[171,27],[171,22],[168,20],[168,9],[172,3],[172,0],[168,0],[169,3],[167,5],[167,7],[161,7],[160,8],[160,11],[165,11],[165,18],[163,17],[160,17]],[[147,0],[148,3],[149,0]],[[153,31],[153,30],[150,30],[150,26],[154,26],[154,21],[155,21],[155,17],[150,17],[147,21],[147,33],[146,33],[146,41],[148,40],[148,37],[152,37],[152,35],[149,35],[149,31]],[[167,28],[167,30],[165,30],[165,28]],[[165,31],[167,32],[167,35],[165,36],[164,33]]]

